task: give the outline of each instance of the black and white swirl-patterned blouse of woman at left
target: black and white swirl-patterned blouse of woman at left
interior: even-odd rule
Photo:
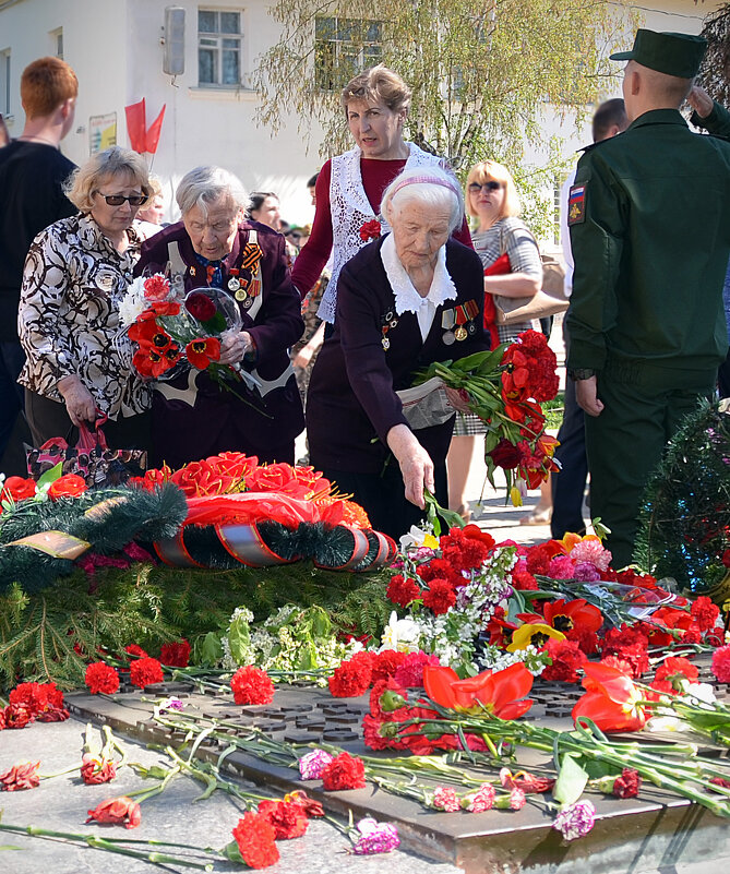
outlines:
[[[76,374],[110,419],[151,407],[151,388],[131,367],[119,323],[119,301],[144,239],[137,224],[127,231],[130,244],[121,254],[89,215],[62,218],[35,238],[17,316],[27,356],[21,385],[62,402],[59,380]]]

